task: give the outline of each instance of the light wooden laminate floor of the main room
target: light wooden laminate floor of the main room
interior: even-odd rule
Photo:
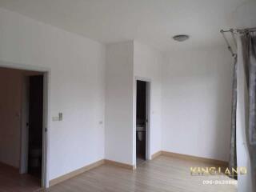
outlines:
[[[226,176],[191,176],[190,166],[213,166],[179,158],[160,156],[142,163],[137,170],[103,165],[66,182],[51,186],[47,192],[236,192],[234,185],[203,185],[203,180],[231,180]]]

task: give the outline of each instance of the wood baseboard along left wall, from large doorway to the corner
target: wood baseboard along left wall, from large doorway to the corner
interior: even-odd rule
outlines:
[[[84,173],[84,172],[86,172],[88,170],[94,169],[97,166],[103,165],[104,162],[105,162],[104,159],[102,159],[102,160],[99,160],[98,162],[91,163],[88,166],[83,166],[82,168],[80,168],[78,170],[71,171],[68,174],[64,174],[64,175],[62,175],[62,176],[60,176],[58,178],[54,178],[54,179],[50,180],[49,186],[54,186],[54,185],[56,185],[56,184],[58,184],[60,182],[66,181],[67,179],[74,178],[78,174],[82,174],[82,173]]]

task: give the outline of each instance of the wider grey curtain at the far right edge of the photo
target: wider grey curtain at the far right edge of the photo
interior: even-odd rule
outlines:
[[[248,91],[246,105],[246,138],[250,154],[253,183],[256,182],[256,33],[242,36],[242,54]],[[255,186],[254,186],[255,187]],[[255,190],[255,189],[254,189]]]

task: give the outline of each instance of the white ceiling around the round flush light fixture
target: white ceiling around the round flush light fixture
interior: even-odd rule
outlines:
[[[254,0],[0,0],[0,6],[99,42],[136,39],[160,50],[170,51],[223,45],[219,30],[245,26],[245,22],[241,22],[244,12],[241,14],[240,10],[242,7],[250,9],[251,3],[254,2]],[[175,34],[189,34],[191,38],[187,42],[178,43],[171,39]]]

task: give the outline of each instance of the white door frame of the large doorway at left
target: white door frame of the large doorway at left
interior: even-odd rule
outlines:
[[[30,66],[26,64],[18,64],[14,62],[4,62],[0,60],[0,67],[14,70],[30,70],[37,71],[43,74],[43,113],[42,113],[42,178],[41,186],[49,187],[49,130],[50,130],[50,68],[41,66]],[[24,121],[24,119],[22,118]],[[21,147],[20,147],[20,171],[22,167],[22,123],[21,121]]]

